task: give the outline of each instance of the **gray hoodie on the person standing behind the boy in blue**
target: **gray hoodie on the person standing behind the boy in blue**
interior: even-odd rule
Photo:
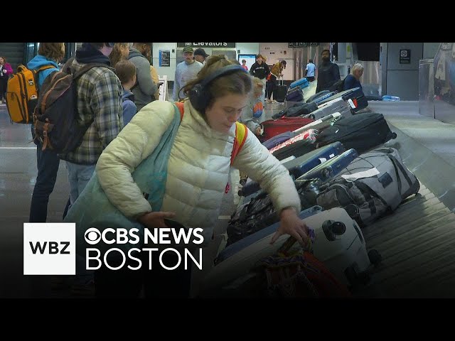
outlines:
[[[134,94],[134,104],[139,112],[142,107],[153,102],[154,94],[158,89],[151,79],[150,62],[136,48],[129,49],[128,59],[136,66],[136,85],[132,88]]]

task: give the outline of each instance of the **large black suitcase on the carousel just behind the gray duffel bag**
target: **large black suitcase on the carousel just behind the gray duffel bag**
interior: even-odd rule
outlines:
[[[321,131],[316,136],[316,148],[340,141],[346,149],[363,153],[396,137],[382,114],[365,112],[336,121]]]

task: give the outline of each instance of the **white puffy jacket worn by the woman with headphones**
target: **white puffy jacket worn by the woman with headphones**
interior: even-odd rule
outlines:
[[[154,101],[134,115],[116,139],[103,151],[96,171],[109,200],[127,217],[151,212],[149,202],[133,182],[131,173],[159,144],[174,117],[171,102]],[[176,221],[186,227],[204,229],[207,245],[218,220],[220,204],[230,171],[230,155],[235,124],[229,135],[210,129],[203,117],[184,104],[168,161],[168,177],[162,211],[176,212]],[[256,180],[272,197],[280,212],[295,207],[300,212],[299,195],[284,166],[280,165],[255,134],[247,139],[233,165]]]

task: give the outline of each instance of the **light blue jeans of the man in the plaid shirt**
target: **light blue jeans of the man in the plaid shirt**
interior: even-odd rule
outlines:
[[[70,206],[75,203],[82,190],[92,178],[96,165],[77,165],[76,163],[66,163],[68,169],[68,181],[70,182]],[[76,225],[77,228],[77,225]],[[93,278],[93,271],[85,269],[85,258],[76,254],[76,284],[84,284]]]

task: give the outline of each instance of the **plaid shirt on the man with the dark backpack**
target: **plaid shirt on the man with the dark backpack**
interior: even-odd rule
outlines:
[[[73,63],[74,70],[85,64]],[[123,88],[119,78],[107,67],[93,67],[77,80],[77,110],[81,124],[89,124],[82,143],[74,151],[59,155],[70,163],[97,163],[103,149],[123,128]]]

